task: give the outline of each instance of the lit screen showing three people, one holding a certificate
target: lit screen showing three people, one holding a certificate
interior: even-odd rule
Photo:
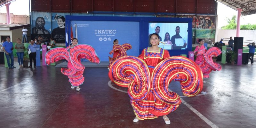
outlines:
[[[161,33],[159,26],[161,27]],[[158,27],[159,31],[156,29]],[[164,36],[164,41],[160,40],[158,47],[166,50],[187,49],[188,23],[149,23],[148,28],[148,33],[158,32],[159,35]]]

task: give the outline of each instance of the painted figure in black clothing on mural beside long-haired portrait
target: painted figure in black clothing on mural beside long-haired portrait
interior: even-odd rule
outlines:
[[[57,18],[58,27],[52,30],[52,38],[56,41],[56,43],[65,43],[66,41],[65,21],[66,20],[64,16],[57,16],[56,18]]]

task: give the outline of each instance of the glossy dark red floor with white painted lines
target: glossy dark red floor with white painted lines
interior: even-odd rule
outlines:
[[[255,128],[255,65],[222,64],[205,79],[206,95],[184,97],[178,82],[169,89],[183,102],[167,115],[133,123],[126,88],[109,81],[107,68],[85,68],[82,90],[70,88],[60,68],[19,69],[0,65],[0,128]]]

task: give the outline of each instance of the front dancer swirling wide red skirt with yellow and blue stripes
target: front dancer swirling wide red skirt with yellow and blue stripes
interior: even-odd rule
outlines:
[[[136,116],[133,122],[163,116],[164,122],[171,124],[167,115],[179,107],[181,99],[177,93],[169,92],[170,82],[180,81],[183,94],[195,96],[203,88],[203,74],[194,61],[170,57],[167,50],[159,48],[158,34],[150,36],[150,44],[139,57],[124,56],[114,61],[108,76],[115,84],[128,87]]]

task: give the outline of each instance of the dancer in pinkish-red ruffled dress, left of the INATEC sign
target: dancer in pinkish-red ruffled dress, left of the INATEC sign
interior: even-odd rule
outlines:
[[[61,68],[61,73],[68,76],[71,88],[76,87],[79,91],[79,85],[84,83],[84,65],[81,59],[87,59],[93,63],[100,63],[100,58],[97,56],[94,48],[87,44],[79,44],[78,40],[74,38],[72,45],[67,48],[54,48],[49,50],[45,55],[45,62],[47,65],[57,62],[59,60],[67,60],[67,68]]]

